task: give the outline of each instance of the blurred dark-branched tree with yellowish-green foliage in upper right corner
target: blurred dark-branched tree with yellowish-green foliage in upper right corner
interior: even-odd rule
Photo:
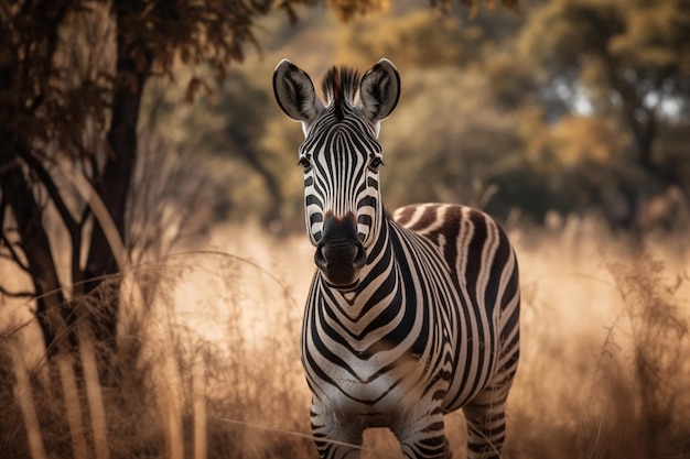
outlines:
[[[520,45],[565,108],[587,103],[592,116],[614,117],[628,147],[612,161],[629,211],[618,223],[636,227],[646,203],[668,187],[690,189],[687,162],[664,138],[687,123],[690,109],[690,13],[687,2],[553,0],[538,8]],[[615,128],[614,128],[615,129]],[[686,167],[687,168],[687,167]]]

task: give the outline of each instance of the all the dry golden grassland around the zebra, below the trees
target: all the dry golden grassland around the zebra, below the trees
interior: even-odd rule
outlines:
[[[522,354],[505,457],[690,458],[687,236],[634,251],[593,220],[510,234]],[[127,312],[114,384],[89,376],[88,349],[76,381],[51,372],[26,305],[0,298],[14,312],[0,335],[0,457],[315,457],[299,359],[312,272],[305,238],[236,226],[136,267],[112,292]],[[455,458],[463,424],[446,417]],[[364,448],[400,457],[387,430]]]

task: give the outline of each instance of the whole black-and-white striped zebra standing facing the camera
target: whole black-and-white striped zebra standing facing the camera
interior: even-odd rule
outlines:
[[[468,458],[499,458],[519,356],[518,266],[504,230],[460,205],[386,214],[380,122],[398,103],[388,59],[332,67],[322,92],[288,59],[280,108],[302,123],[306,232],[316,272],[301,336],[321,458],[358,458],[387,427],[407,458],[451,457],[443,416],[462,408]]]

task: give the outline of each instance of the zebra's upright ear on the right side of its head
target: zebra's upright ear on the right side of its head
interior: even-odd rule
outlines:
[[[388,117],[400,98],[400,75],[388,59],[380,59],[362,77],[359,102],[362,112],[371,122]]]

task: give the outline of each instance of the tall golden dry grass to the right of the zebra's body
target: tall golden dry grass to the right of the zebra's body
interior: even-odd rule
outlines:
[[[526,286],[507,456],[690,457],[689,265],[664,248],[636,254],[608,239],[550,249],[560,262]],[[679,263],[669,269],[662,254]]]

